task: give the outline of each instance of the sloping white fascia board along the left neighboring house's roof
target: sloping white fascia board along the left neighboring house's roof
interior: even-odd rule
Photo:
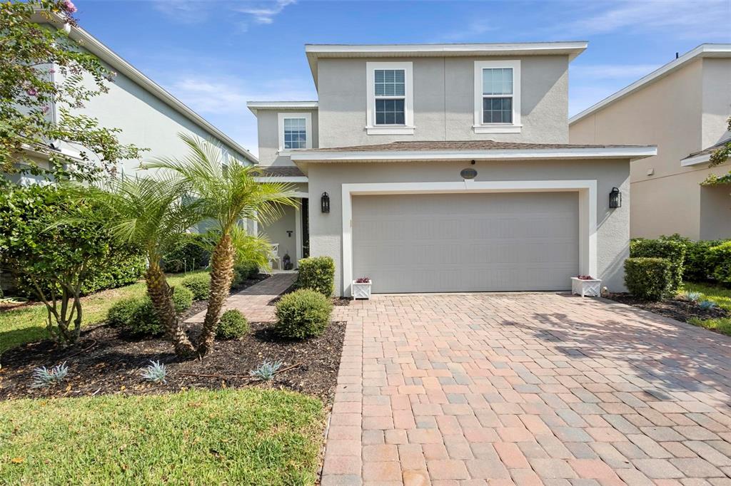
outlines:
[[[39,22],[52,23],[54,26],[57,27],[61,27],[64,25],[64,20],[62,20],[60,16],[48,19],[36,15],[34,19],[35,18],[37,18]],[[238,152],[239,155],[242,155],[243,158],[246,158],[254,164],[259,163],[259,158],[257,158],[256,155],[252,154],[244,147],[241,147],[241,145],[235,142],[230,136],[224,134],[224,132],[211,125],[208,120],[205,120],[205,118],[201,117],[192,109],[187,107],[186,104],[183,104],[182,101],[168,93],[156,82],[145,76],[145,74],[142,74],[142,72],[135,68],[135,66],[132,66],[132,64],[125,61],[124,58],[121,58],[120,55],[115,53],[109,47],[102,44],[99,39],[96,39],[96,37],[89,34],[83,28],[72,26],[69,37],[79,42],[79,45],[81,47],[96,55],[96,57],[98,57],[102,61],[105,61],[105,63],[109,64],[113,69],[115,69],[115,71],[124,74],[126,77],[129,77],[130,80],[136,82],[142,88],[147,90],[148,93],[151,93],[157,99],[161,100],[164,104],[167,104],[169,107],[175,109],[175,111],[181,113],[181,115],[188,118],[188,120],[191,120],[197,126],[207,131],[208,134],[211,134],[212,136],[216,137],[216,139],[219,139],[224,144],[227,144],[230,148],[235,150],[235,152]]]

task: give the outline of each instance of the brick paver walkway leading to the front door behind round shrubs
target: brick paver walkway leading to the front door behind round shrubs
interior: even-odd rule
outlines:
[[[262,280],[256,285],[235,293],[226,300],[224,310],[238,309],[243,312],[251,322],[265,322],[274,320],[274,306],[267,304],[280,293],[287,290],[297,279],[296,273],[273,274],[268,279]],[[202,323],[205,318],[205,311],[201,311],[190,317],[188,323]]]

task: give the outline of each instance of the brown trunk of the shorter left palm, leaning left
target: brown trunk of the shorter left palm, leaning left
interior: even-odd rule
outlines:
[[[150,262],[150,266],[145,272],[145,282],[147,283],[147,293],[152,301],[155,315],[162,323],[168,339],[175,346],[175,355],[180,358],[188,358],[193,355],[195,349],[188,339],[188,335],[183,331],[178,315],[175,314],[173,289],[170,288],[170,285],[167,285],[165,274],[159,263]]]

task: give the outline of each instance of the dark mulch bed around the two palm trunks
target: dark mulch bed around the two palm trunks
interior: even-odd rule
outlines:
[[[342,305],[339,301],[336,304]],[[183,320],[205,310],[206,305],[206,301],[194,302]],[[216,341],[214,350],[205,358],[183,361],[175,357],[172,345],[163,337],[131,339],[120,336],[117,329],[107,325],[85,328],[80,341],[66,349],[50,341],[26,344],[1,357],[0,400],[262,386],[284,387],[317,396],[326,404],[332,401],[346,323],[330,323],[322,336],[305,341],[279,338],[272,324],[251,323],[248,336]],[[188,333],[196,337],[200,324],[189,325]],[[167,366],[167,383],[142,379],[141,369],[151,360]],[[281,360],[283,371],[269,382],[257,382],[249,377],[249,371],[264,360]],[[69,366],[69,374],[61,387],[31,388],[35,368],[64,361]]]

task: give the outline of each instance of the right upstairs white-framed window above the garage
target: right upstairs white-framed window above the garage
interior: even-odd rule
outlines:
[[[520,61],[475,61],[474,131],[520,133]]]

